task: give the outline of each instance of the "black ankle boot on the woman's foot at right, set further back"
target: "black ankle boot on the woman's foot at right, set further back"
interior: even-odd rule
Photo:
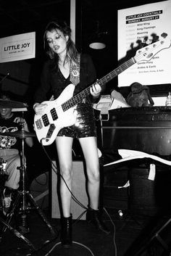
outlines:
[[[96,226],[99,231],[102,231],[105,234],[110,234],[109,229],[105,226],[103,220],[101,220],[99,210],[93,210],[91,208],[88,208],[86,220],[88,221],[88,223],[93,223],[93,225]]]

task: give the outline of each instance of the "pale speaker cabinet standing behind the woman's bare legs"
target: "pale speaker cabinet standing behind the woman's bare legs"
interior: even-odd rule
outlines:
[[[52,162],[51,166],[51,218],[61,217],[60,195],[59,195],[59,174],[57,174],[57,164]],[[83,161],[73,161],[73,176],[72,176],[72,194],[78,201],[87,207],[88,196],[86,193],[86,176]],[[78,205],[74,199],[71,200],[71,213],[72,218],[77,219],[83,212],[84,208]],[[81,220],[86,219],[84,214]]]

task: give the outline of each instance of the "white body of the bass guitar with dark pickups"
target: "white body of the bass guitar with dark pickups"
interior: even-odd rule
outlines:
[[[70,83],[57,99],[42,102],[42,104],[47,104],[47,107],[43,115],[35,115],[34,128],[38,141],[43,146],[52,144],[60,129],[75,124],[74,107],[65,111],[62,109],[62,104],[72,97],[74,89],[75,86]]]

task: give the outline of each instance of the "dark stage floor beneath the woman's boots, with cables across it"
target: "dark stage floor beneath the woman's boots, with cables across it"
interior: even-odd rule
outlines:
[[[1,256],[135,256],[135,255],[169,255],[161,242],[154,237],[158,234],[164,244],[170,244],[170,216],[154,217],[145,215],[131,215],[123,212],[119,217],[117,210],[106,209],[104,221],[111,234],[101,234],[86,220],[78,220],[73,223],[72,247],[64,249],[60,244],[60,221],[50,217],[49,210],[43,209],[43,214],[49,219],[51,226],[57,231],[57,236],[52,236],[49,227],[36,210],[28,213],[28,226],[30,232],[24,234],[28,241],[16,236],[7,228],[2,235],[0,243]],[[167,223],[169,220],[169,223]],[[12,218],[11,226],[14,224]],[[0,223],[2,228],[4,224]],[[162,231],[159,230],[162,228]],[[154,237],[154,238],[153,238]],[[152,238],[152,239],[151,239]],[[151,243],[149,244],[149,241]]]

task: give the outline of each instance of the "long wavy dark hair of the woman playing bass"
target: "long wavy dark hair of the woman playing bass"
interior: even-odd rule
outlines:
[[[43,35],[43,44],[44,44],[44,49],[46,51],[46,54],[49,56],[50,59],[54,59],[54,61],[56,63],[58,63],[59,61],[59,57],[58,54],[56,54],[54,51],[51,50],[51,48],[49,47],[49,44],[46,40],[46,33],[52,32],[54,30],[60,30],[64,36],[68,36],[68,40],[67,40],[67,53],[66,56],[64,58],[64,63],[65,62],[70,62],[70,64],[72,66],[78,65],[78,51],[75,47],[74,42],[71,39],[71,29],[70,27],[67,25],[66,22],[64,21],[51,21],[48,23],[48,25],[46,25],[46,29]]]

